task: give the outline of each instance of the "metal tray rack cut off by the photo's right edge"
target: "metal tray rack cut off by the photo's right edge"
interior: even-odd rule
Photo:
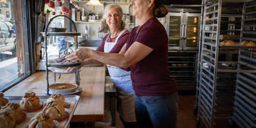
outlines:
[[[256,1],[247,1],[242,10],[242,33],[240,42],[256,41]],[[238,127],[256,127],[256,51],[239,50],[238,69],[251,73],[238,73],[235,89],[235,105],[231,119]]]

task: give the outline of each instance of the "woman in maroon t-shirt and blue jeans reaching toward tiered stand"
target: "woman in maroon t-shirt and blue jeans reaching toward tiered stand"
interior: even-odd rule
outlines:
[[[168,36],[156,17],[168,13],[161,0],[133,0],[133,15],[139,19],[120,53],[102,53],[78,48],[68,60],[90,57],[108,65],[130,68],[139,127],[176,127],[178,95],[169,77]]]

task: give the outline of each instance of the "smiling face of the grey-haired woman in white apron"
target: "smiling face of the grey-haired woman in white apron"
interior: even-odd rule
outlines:
[[[110,8],[107,11],[107,17],[106,17],[107,26],[112,28],[119,28],[121,29],[121,22],[122,22],[122,16],[121,13],[116,8]]]

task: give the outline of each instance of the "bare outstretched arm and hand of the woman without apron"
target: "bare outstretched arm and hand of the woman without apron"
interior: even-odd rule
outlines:
[[[80,60],[80,58],[90,57],[94,60],[100,61],[101,63],[114,65],[119,68],[128,68],[130,65],[134,65],[134,63],[145,58],[152,51],[152,48],[135,41],[124,55],[118,53],[103,53],[96,50],[90,50],[88,48],[78,48],[78,50],[66,56],[66,58],[68,60],[76,61]]]

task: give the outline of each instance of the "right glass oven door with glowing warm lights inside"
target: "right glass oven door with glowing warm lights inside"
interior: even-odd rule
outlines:
[[[186,21],[186,49],[196,49],[198,46],[199,16],[187,16]]]

